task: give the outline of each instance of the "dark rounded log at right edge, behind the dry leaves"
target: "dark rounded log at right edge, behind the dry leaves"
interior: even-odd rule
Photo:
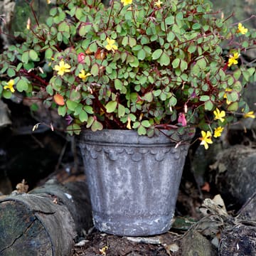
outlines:
[[[235,145],[216,158],[211,166],[212,181],[227,206],[240,208],[256,191],[256,150]]]

